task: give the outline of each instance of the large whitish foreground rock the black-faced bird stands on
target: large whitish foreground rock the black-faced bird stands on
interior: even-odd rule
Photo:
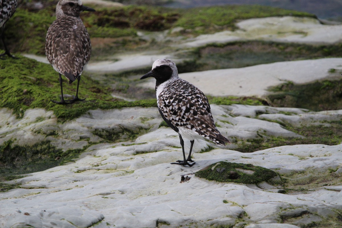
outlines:
[[[300,137],[280,124],[266,121],[267,115],[291,112],[289,117],[300,117],[305,124],[316,124],[322,118],[326,121],[340,118],[340,111],[322,113],[244,105],[212,105],[212,112],[221,133],[238,132],[237,136],[249,135],[250,138],[255,137],[255,131]],[[31,118],[28,113],[40,114]],[[78,224],[77,227],[143,228],[159,224],[291,228],[305,224],[309,215],[315,221],[326,222],[327,216],[333,217],[336,210],[342,210],[340,185],[282,194],[279,193],[284,192],[281,186],[271,182],[257,185],[220,183],[194,175],[201,168],[219,161],[263,166],[287,176],[308,170],[324,173],[341,167],[342,144],[281,146],[241,153],[232,150],[233,147],[213,147],[210,142],[201,140],[194,144],[196,164],[183,167],[170,164],[182,158],[179,138],[172,129],[159,128],[162,119],[156,108],[93,110],[63,124],[44,122],[54,118],[52,113],[42,110],[28,113],[25,113],[25,119],[14,119],[7,109],[0,110],[0,115],[13,123],[8,126],[0,118],[1,139],[8,138],[6,132],[13,138],[16,131],[35,131],[38,126],[44,129],[44,124],[63,129],[52,137],[56,142],[65,140],[72,145],[76,145],[74,139],[68,137],[79,140],[80,135],[86,134],[96,142],[99,139],[92,134],[93,129],[102,130],[108,126],[112,129],[119,125],[130,129],[140,127],[148,131],[142,132],[133,142],[97,143],[88,147],[73,163],[6,182],[21,188],[0,193],[0,227],[23,227],[23,224],[44,228],[75,227]],[[258,119],[262,115],[266,117]],[[34,121],[37,118],[42,121]],[[33,135],[36,134],[35,140],[43,135],[41,131]],[[189,147],[189,142],[186,143]],[[200,153],[201,150],[207,152]],[[180,183],[182,175],[188,179]],[[282,223],[285,217],[292,219],[291,224]]]

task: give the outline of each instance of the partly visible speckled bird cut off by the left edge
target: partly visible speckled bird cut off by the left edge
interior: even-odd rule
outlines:
[[[0,0],[0,27],[1,27],[1,40],[3,43],[3,47],[5,49],[5,53],[0,54],[1,56],[8,55],[12,58],[16,58],[11,55],[10,51],[7,49],[5,40],[4,40],[4,29],[5,24],[10,19],[10,17],[14,14],[15,10],[17,9],[18,0]]]

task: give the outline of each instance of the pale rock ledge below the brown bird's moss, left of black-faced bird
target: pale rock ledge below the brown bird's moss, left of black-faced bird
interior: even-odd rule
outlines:
[[[139,110],[139,111],[138,111]],[[0,144],[13,140],[13,145],[32,146],[49,140],[53,146],[63,150],[82,149],[89,143],[104,139],[94,134],[98,131],[106,135],[130,131],[147,131],[158,127],[162,121],[155,108],[123,108],[115,110],[89,110],[81,117],[59,123],[52,111],[29,109],[23,118],[16,119],[12,111],[0,111]],[[118,138],[120,139],[120,137]]]

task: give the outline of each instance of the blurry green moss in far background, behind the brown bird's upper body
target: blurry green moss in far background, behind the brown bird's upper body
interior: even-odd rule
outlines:
[[[98,42],[108,42],[105,44],[105,49],[117,52],[120,50],[136,50],[136,48],[149,49],[151,46],[155,46],[153,41],[146,43],[137,37],[137,31],[163,31],[181,26],[189,28],[183,35],[194,36],[223,29],[235,29],[235,22],[238,19],[284,15],[315,17],[313,14],[268,6],[239,5],[213,6],[191,10],[156,6],[96,8],[96,12],[83,12],[81,18],[95,47]],[[46,32],[54,20],[55,5],[50,5],[39,11],[18,8],[13,17],[6,23],[5,38],[8,40],[10,50],[45,54]],[[95,38],[112,39],[97,41]],[[98,51],[102,53],[101,50]]]

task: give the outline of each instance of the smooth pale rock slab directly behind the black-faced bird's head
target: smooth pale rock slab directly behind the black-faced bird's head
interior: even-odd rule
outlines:
[[[342,58],[321,58],[300,61],[285,61],[243,68],[206,70],[181,73],[180,78],[194,84],[204,94],[212,96],[257,96],[263,97],[272,86],[291,81],[305,84],[329,79],[330,69],[342,70]],[[210,80],[208,80],[210,78]],[[334,79],[341,79],[339,76]],[[140,83],[142,87],[154,89],[152,78]]]

